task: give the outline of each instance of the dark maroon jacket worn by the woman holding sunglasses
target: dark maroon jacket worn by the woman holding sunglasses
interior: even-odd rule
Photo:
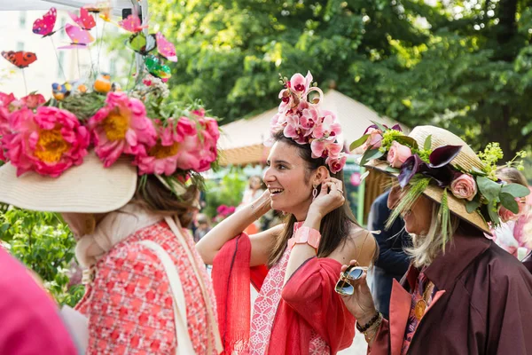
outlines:
[[[371,354],[399,355],[419,270],[394,281],[390,320]],[[426,268],[438,291],[413,335],[409,354],[532,354],[532,275],[476,229],[461,230]]]

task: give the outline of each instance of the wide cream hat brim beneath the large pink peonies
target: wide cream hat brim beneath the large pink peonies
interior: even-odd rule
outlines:
[[[94,152],[81,165],[60,177],[44,177],[28,171],[17,177],[17,169],[0,167],[0,201],[48,212],[105,213],[127,204],[137,189],[137,168],[119,160],[104,168]]]

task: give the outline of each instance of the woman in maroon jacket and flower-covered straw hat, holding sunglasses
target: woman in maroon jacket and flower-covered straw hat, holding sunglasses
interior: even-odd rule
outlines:
[[[532,276],[484,235],[505,209],[518,213],[529,193],[497,177],[500,147],[477,155],[433,126],[405,136],[374,125],[353,147],[360,144],[361,165],[394,177],[387,225],[402,215],[413,242],[411,266],[401,284],[394,280],[389,321],[375,308],[365,271],[355,260],[342,266],[336,290],[368,353],[532,354]]]

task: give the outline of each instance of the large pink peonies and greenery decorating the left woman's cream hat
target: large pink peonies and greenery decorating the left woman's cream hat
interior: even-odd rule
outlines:
[[[160,52],[173,48],[163,44]],[[0,160],[11,162],[19,176],[35,171],[59,177],[94,148],[106,168],[127,156],[141,181],[154,174],[174,191],[171,186],[211,168],[220,133],[199,102],[169,102],[163,83],[168,75],[156,73],[146,64],[129,91],[121,91],[106,74],[88,83],[54,83],[48,101],[41,94],[15,99],[0,92]]]

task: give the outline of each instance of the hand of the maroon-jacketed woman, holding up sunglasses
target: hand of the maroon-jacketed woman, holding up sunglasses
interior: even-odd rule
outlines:
[[[349,265],[357,265],[356,260],[351,260]],[[343,265],[341,272],[345,272],[349,265]],[[366,276],[367,273],[364,272],[360,279],[349,280],[351,286],[355,288],[355,292],[352,296],[341,296],[348,311],[353,314],[361,326],[366,325],[377,313],[375,304],[373,303],[372,291],[366,282]]]

